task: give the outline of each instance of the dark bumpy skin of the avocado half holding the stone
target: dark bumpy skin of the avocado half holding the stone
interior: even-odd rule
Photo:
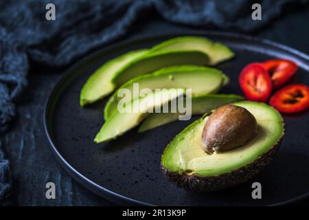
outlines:
[[[282,135],[283,136],[283,135]],[[224,173],[222,175],[214,177],[200,177],[198,175],[187,175],[185,173],[174,173],[164,168],[161,164],[161,168],[165,177],[172,181],[176,186],[185,188],[187,191],[197,192],[211,192],[216,190],[222,190],[231,186],[242,184],[245,181],[258,175],[260,171],[264,169],[272,160],[279,146],[281,144],[282,137],[278,140],[277,144],[271,147],[266,153],[255,159],[254,162],[248,164],[238,170],[234,170],[230,173]]]

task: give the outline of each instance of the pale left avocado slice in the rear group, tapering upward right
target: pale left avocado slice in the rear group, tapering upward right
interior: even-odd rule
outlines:
[[[113,58],[99,67],[82,87],[80,93],[80,106],[93,103],[108,94],[116,88],[111,82],[113,76],[119,72],[124,66],[133,61],[135,58],[146,54],[149,50],[135,50],[128,52],[122,56]]]

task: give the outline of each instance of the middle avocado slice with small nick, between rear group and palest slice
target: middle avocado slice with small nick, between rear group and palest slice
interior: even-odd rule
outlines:
[[[226,78],[227,76],[215,68],[194,65],[171,66],[159,69],[152,74],[137,76],[119,89],[129,89],[133,94],[132,99],[139,96],[133,89],[136,87],[135,83],[138,83],[139,89],[192,88],[192,96],[198,96],[216,93],[225,83]],[[122,99],[117,96],[119,89],[106,102],[104,107],[105,120],[117,109],[117,104]]]

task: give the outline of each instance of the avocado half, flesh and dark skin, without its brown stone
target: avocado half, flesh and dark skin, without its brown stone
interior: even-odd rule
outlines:
[[[186,190],[208,192],[236,186],[260,173],[273,159],[284,135],[281,115],[260,102],[237,102],[255,116],[258,135],[244,146],[208,155],[201,147],[208,116],[196,120],[168,144],[161,157],[165,176]]]

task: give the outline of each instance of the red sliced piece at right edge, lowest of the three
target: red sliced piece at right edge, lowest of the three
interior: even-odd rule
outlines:
[[[309,88],[302,84],[288,85],[277,91],[269,104],[282,113],[296,113],[309,107]]]

